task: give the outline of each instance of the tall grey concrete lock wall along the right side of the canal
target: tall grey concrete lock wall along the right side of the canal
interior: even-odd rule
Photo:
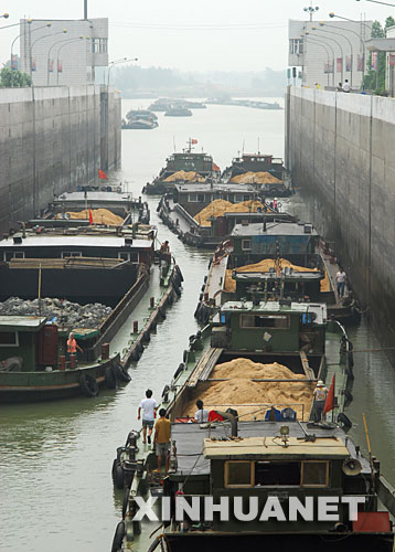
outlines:
[[[395,102],[289,87],[286,161],[383,342],[395,343]],[[395,354],[391,353],[392,360]]]

